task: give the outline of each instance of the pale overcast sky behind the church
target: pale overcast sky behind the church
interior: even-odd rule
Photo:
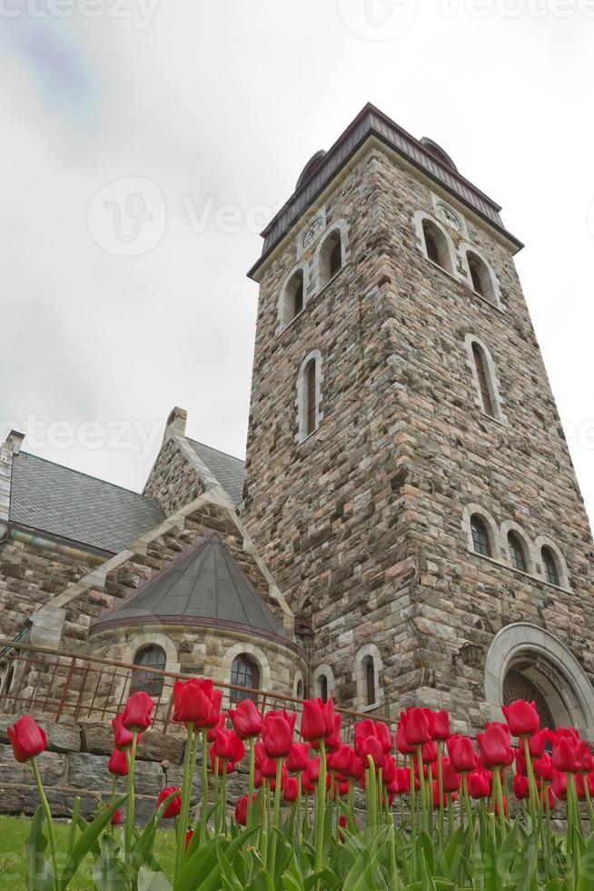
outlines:
[[[0,28],[3,433],[140,489],[181,405],[244,456],[258,233],[371,101],[526,243],[594,516],[594,0],[0,0]]]

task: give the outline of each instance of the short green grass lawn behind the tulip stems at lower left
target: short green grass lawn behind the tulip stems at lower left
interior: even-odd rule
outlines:
[[[20,891],[25,888],[25,841],[29,835],[31,820],[26,816],[0,816],[0,888]],[[69,824],[56,823],[57,844],[64,851]],[[120,832],[117,829],[116,832]],[[154,857],[165,872],[173,875],[175,842],[173,832],[161,830],[154,844]],[[49,849],[47,850],[49,858]],[[93,860],[86,857],[81,868],[68,886],[68,891],[93,891]]]

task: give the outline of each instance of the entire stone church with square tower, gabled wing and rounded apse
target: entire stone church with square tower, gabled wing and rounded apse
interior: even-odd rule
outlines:
[[[11,433],[2,636],[594,738],[592,538],[500,206],[366,105],[262,235],[245,463],[180,408],[142,495]]]

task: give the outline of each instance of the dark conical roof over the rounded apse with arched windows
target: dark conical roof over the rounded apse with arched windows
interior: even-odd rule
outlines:
[[[104,613],[93,630],[155,622],[228,627],[287,642],[282,624],[216,534],[193,546],[124,604]]]

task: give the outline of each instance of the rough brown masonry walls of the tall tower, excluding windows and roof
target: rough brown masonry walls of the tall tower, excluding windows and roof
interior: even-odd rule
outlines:
[[[348,262],[280,334],[282,285],[313,263],[317,243],[301,259],[298,245],[317,211],[263,272],[244,519],[290,605],[312,618],[339,701],[352,701],[354,656],[372,641],[392,709],[451,707],[460,729],[476,729],[492,706],[484,661],[452,663],[469,639],[486,653],[500,628],[529,620],[594,672],[592,542],[510,246],[456,205],[468,232],[447,227],[451,242],[489,261],[500,312],[461,280],[460,255],[457,277],[423,255],[414,217],[435,215],[436,188],[370,148],[326,197],[325,231],[349,226]],[[506,425],[477,405],[469,333],[490,349]],[[312,349],[323,421],[296,445],[296,375]],[[507,556],[470,553],[470,503],[552,539],[572,593]]]

